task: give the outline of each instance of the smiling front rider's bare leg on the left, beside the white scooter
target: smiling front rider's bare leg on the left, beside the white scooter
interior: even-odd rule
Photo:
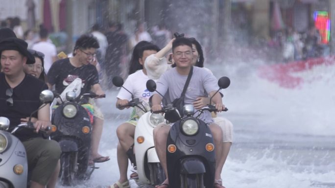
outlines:
[[[167,138],[168,138],[168,131],[170,130],[171,126],[166,124],[158,125],[153,130],[154,136],[154,143],[155,149],[159,158],[159,161],[164,169],[165,175],[167,179],[162,184],[168,184],[168,167],[167,167]],[[167,186],[156,186],[156,188],[160,187],[167,187]]]

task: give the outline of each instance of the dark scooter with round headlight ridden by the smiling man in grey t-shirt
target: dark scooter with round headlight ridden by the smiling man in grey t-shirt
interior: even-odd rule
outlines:
[[[222,77],[218,80],[219,89],[227,88],[230,80]],[[147,89],[156,91],[156,83],[147,81]],[[212,101],[212,98],[211,100]],[[223,111],[227,111],[225,108]],[[215,106],[207,105],[193,115],[194,106],[183,107],[184,117],[178,110],[168,104],[155,113],[165,113],[165,119],[175,123],[170,128],[167,140],[167,167],[169,187],[171,188],[214,188],[215,146],[212,132],[208,125],[198,119],[203,111],[216,111]]]

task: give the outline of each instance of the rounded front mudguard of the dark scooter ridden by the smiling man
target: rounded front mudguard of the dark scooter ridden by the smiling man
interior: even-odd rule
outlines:
[[[198,158],[186,158],[180,162],[181,174],[200,174],[205,173],[206,168],[204,163]]]

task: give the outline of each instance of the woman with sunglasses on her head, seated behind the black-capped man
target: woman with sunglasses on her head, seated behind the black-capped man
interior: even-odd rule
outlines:
[[[33,64],[25,64],[24,65],[24,72],[26,74],[30,74],[31,76],[34,76],[35,78],[38,78],[42,80],[43,82],[47,83],[46,79],[46,73],[44,72],[44,54],[39,51],[35,51],[33,49],[28,49],[28,51],[34,56],[35,63]],[[29,117],[21,119],[22,122],[28,122]],[[37,119],[32,117],[32,122],[36,122]],[[53,172],[53,175],[48,181],[47,188],[55,188],[58,175],[60,171],[60,160],[58,160],[57,167],[55,168],[55,171]]]

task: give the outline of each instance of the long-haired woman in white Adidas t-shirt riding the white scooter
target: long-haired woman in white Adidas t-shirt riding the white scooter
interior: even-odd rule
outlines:
[[[158,46],[150,42],[139,42],[133,50],[131,64],[129,68],[129,76],[125,80],[123,86],[127,88],[133,95],[134,98],[139,98],[143,102],[144,106],[148,109],[148,101],[151,93],[146,90],[145,83],[149,78],[147,77],[146,70],[144,68],[144,61],[147,56],[156,54],[160,49]],[[116,106],[127,105],[131,100],[131,94],[124,88],[120,89],[117,96]],[[121,108],[120,108],[121,109]],[[118,165],[120,170],[120,179],[110,188],[129,188],[129,182],[127,178],[128,159],[136,169],[136,160],[134,155],[134,133],[135,126],[138,119],[143,115],[143,111],[134,108],[127,122],[119,125],[117,128],[117,136],[119,139],[118,143]],[[134,170],[135,171],[135,170]],[[136,171],[131,174],[130,179],[136,179],[138,177]]]

